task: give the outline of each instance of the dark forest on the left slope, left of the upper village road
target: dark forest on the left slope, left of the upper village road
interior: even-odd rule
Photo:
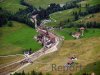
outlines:
[[[20,9],[16,13],[9,12],[5,9],[0,8],[0,27],[7,24],[8,21],[18,21],[24,24],[27,24],[28,26],[34,28],[34,24],[30,21],[30,13],[35,10],[33,6],[27,4],[24,2],[24,0],[21,0],[20,3],[22,5],[27,6],[26,9]]]

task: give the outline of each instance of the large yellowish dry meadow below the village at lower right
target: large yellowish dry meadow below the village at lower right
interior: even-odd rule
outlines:
[[[41,71],[44,74],[50,73],[51,75],[69,75],[69,73],[72,73],[73,75],[82,75],[84,72],[89,74],[91,72],[95,72],[96,75],[99,75],[99,41],[100,37],[84,38],[79,40],[65,40],[62,44],[62,47],[57,52],[37,59],[34,61],[34,64],[23,68],[21,71],[24,70],[27,73],[34,69],[35,71]],[[52,64],[56,64],[57,66],[64,66],[68,61],[68,57],[73,55],[78,58],[77,65],[82,65],[81,71],[79,68],[73,71],[63,71],[62,68],[60,71],[52,71]],[[96,65],[94,65],[94,63],[96,63]]]

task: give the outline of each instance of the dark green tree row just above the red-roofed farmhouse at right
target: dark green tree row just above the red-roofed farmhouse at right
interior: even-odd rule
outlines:
[[[60,21],[60,23],[58,24],[58,26],[55,26],[57,28],[72,28],[72,27],[85,27],[85,28],[100,28],[100,23],[97,23],[96,21],[93,22],[79,22],[79,23],[75,23],[75,22],[68,22],[68,20],[64,20],[64,21]]]

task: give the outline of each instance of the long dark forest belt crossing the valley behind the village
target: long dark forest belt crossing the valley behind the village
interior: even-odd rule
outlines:
[[[34,28],[34,24],[30,21],[30,17],[32,15],[38,14],[37,20],[38,20],[38,24],[40,24],[41,20],[49,18],[49,15],[51,13],[71,9],[74,7],[79,7],[79,5],[77,5],[77,2],[80,2],[80,1],[83,1],[83,0],[73,0],[73,1],[67,2],[66,4],[63,5],[63,7],[61,7],[60,4],[51,3],[49,7],[47,7],[46,9],[41,8],[41,7],[37,9],[33,7],[32,5],[26,3],[24,0],[21,0],[20,4],[27,6],[27,8],[19,9],[19,11],[16,13],[11,13],[5,9],[0,8],[0,22],[1,22],[0,27],[7,24],[8,21],[14,20],[21,23],[25,23],[28,26]]]

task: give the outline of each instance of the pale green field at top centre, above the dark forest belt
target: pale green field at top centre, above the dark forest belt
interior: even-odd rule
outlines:
[[[68,2],[70,0],[25,0],[25,2],[39,8],[46,8],[50,3],[59,3],[59,4],[65,4],[65,2]]]

